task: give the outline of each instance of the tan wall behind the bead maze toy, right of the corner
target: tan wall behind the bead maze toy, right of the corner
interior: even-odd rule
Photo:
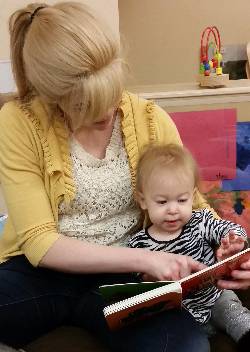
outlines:
[[[206,26],[222,44],[250,41],[249,0],[119,0],[119,14],[135,85],[195,81]]]

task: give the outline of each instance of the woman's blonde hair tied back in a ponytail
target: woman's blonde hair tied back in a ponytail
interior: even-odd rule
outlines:
[[[35,91],[59,106],[73,129],[102,119],[119,104],[124,63],[120,42],[86,5],[30,4],[9,21],[20,98]]]

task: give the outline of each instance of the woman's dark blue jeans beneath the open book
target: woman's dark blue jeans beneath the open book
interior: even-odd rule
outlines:
[[[98,286],[135,281],[130,274],[76,275],[34,268],[24,256],[0,265],[0,341],[22,347],[62,325],[83,327],[111,351],[208,352],[206,334],[185,310],[169,310],[109,331]]]

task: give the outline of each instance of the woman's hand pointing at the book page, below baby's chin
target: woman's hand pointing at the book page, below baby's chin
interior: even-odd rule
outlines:
[[[179,280],[206,266],[186,255],[147,251],[145,281]]]

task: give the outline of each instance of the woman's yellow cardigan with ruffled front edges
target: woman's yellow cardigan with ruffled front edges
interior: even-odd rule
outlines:
[[[181,144],[170,117],[159,106],[124,92],[121,125],[132,185],[140,150],[150,141]],[[0,239],[0,262],[20,254],[37,266],[58,239],[58,205],[75,196],[69,130],[49,117],[38,98],[14,100],[0,111],[0,182],[8,220]],[[206,207],[198,195],[195,208]]]

